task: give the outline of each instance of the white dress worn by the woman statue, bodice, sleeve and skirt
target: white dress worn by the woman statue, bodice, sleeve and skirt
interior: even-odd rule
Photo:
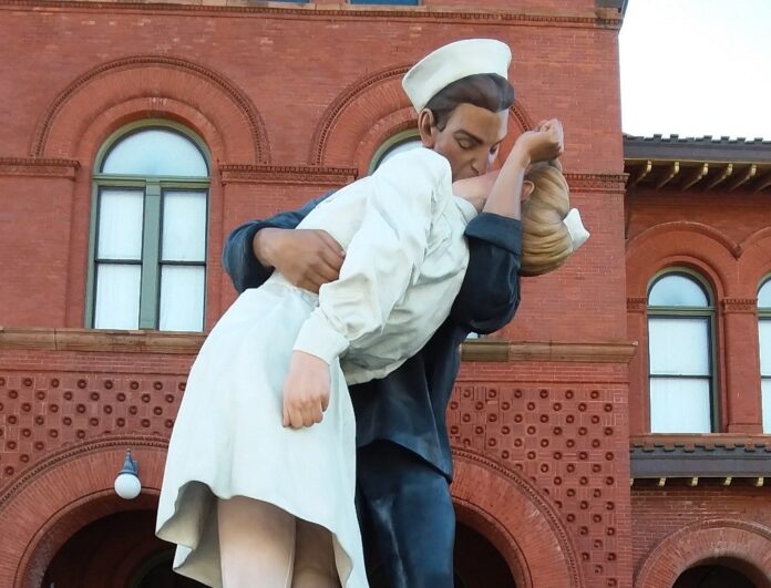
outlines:
[[[322,228],[346,249],[339,280],[316,296],[275,274],[225,312],[191,370],[166,460],[156,533],[177,544],[178,572],[222,586],[216,497],[248,496],[329,529],[342,586],[367,586],[346,383],[395,370],[448,317],[475,214],[453,196],[444,157],[397,155],[298,227]],[[323,421],[301,430],[281,424],[292,350],[331,365]]]

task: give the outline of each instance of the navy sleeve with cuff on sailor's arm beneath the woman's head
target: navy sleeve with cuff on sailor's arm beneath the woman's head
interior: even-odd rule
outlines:
[[[469,268],[450,316],[463,329],[487,334],[505,327],[520,305],[522,223],[482,213],[465,236]]]

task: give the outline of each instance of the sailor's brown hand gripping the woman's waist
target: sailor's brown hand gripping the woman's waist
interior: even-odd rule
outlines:
[[[326,230],[265,228],[253,243],[255,257],[291,283],[318,293],[340,277],[345,252]]]

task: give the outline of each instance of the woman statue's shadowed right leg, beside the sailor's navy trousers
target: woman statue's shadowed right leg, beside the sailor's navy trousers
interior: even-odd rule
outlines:
[[[291,588],[340,588],[332,534],[319,525],[299,518],[295,579]]]

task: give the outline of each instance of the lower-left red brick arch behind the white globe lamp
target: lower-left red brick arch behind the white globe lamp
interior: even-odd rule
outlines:
[[[132,447],[142,494],[123,501],[113,483]],[[0,495],[3,553],[0,586],[40,586],[56,551],[83,526],[121,510],[157,507],[167,440],[111,436],[53,453],[23,473]]]

